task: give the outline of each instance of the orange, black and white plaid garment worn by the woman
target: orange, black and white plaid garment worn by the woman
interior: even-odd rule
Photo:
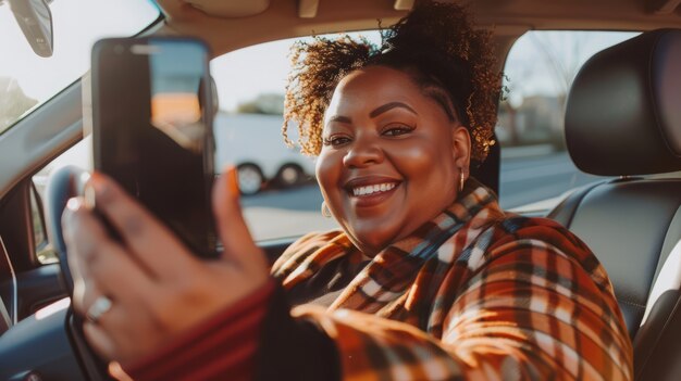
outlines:
[[[329,308],[300,305],[335,341],[345,380],[632,379],[632,346],[603,266],[548,219],[504,213],[474,180],[379,253]],[[362,254],[339,231],[294,243],[286,289]]]

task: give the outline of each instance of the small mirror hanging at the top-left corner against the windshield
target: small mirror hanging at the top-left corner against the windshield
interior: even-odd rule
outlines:
[[[9,0],[33,51],[40,56],[52,56],[52,13],[47,0]]]

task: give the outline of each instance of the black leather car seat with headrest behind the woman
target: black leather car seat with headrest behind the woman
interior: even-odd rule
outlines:
[[[636,380],[681,378],[681,30],[644,33],[590,59],[565,119],[572,161],[616,176],[548,215],[603,263],[634,344]]]

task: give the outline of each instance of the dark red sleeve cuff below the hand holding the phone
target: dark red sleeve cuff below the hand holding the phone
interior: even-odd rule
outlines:
[[[271,280],[170,345],[123,368],[134,380],[252,380]]]

